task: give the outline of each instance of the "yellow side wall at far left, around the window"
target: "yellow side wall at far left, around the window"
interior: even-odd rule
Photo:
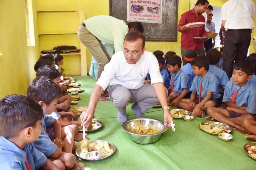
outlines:
[[[33,9],[36,9],[33,4]],[[26,94],[38,58],[38,38],[35,46],[27,46],[24,0],[0,1],[0,98],[10,94]],[[36,12],[33,12],[34,23]],[[37,25],[37,24],[36,24]],[[35,27],[37,35],[37,26]]]

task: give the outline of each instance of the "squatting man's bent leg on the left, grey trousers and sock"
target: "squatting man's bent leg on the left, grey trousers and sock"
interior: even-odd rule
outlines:
[[[127,121],[126,106],[130,103],[132,98],[130,91],[116,84],[109,88],[109,98],[118,109],[117,121],[122,123]]]

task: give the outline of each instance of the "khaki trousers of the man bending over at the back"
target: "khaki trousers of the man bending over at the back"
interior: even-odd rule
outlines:
[[[86,27],[80,25],[77,30],[77,35],[80,40],[86,46],[88,51],[92,54],[98,63],[98,72],[96,81],[100,78],[104,66],[110,61],[105,46],[99,41],[92,33],[90,33]]]

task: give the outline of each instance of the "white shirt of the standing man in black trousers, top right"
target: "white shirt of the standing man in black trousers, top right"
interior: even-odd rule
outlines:
[[[221,18],[226,20],[225,29],[254,30],[255,4],[252,0],[229,0],[221,8]]]

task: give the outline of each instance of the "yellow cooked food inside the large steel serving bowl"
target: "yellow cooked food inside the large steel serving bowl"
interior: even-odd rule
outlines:
[[[153,127],[151,125],[141,126],[141,127],[137,125],[137,126],[132,126],[130,129],[127,129],[127,130],[137,134],[155,134],[155,133],[158,133],[160,129]]]

